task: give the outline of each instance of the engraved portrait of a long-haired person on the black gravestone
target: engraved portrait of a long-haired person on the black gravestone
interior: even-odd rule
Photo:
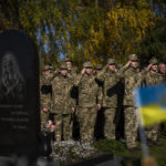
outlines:
[[[0,61],[0,103],[22,103],[25,98],[25,82],[17,59],[10,52]]]

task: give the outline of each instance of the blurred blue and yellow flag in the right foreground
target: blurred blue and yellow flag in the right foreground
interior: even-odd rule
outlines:
[[[143,126],[166,121],[166,84],[135,89],[134,96]]]

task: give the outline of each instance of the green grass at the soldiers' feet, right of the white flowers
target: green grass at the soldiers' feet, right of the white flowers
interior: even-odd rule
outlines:
[[[148,147],[149,155],[153,156],[156,160],[158,166],[166,165],[166,135],[162,134],[159,143],[162,146],[152,146]],[[141,143],[137,143],[138,147],[141,148]],[[131,158],[131,159],[139,159],[142,158],[142,148],[141,151],[131,153],[126,149],[125,144],[112,139],[102,139],[94,143],[94,147],[97,151],[113,153],[116,156],[122,156],[123,158]]]

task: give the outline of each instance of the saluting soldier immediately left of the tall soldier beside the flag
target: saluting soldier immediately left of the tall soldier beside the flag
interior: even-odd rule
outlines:
[[[115,113],[117,108],[117,82],[114,59],[108,59],[107,66],[97,74],[97,80],[103,82],[103,108],[105,114],[104,135],[115,139]]]

